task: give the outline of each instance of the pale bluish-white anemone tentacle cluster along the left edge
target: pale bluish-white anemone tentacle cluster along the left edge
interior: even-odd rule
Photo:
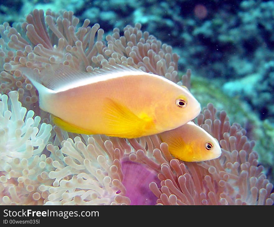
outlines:
[[[46,193],[38,190],[45,183],[51,158],[44,148],[52,126],[27,112],[18,101],[18,92],[0,95],[0,191],[1,204],[43,204]],[[50,180],[52,181],[52,180]]]

